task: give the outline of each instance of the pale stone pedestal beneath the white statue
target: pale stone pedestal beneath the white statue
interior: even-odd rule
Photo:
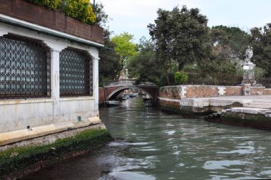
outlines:
[[[256,85],[255,64],[247,62],[244,65],[242,65],[242,68],[244,70],[244,75],[242,76],[242,85],[244,84]]]

